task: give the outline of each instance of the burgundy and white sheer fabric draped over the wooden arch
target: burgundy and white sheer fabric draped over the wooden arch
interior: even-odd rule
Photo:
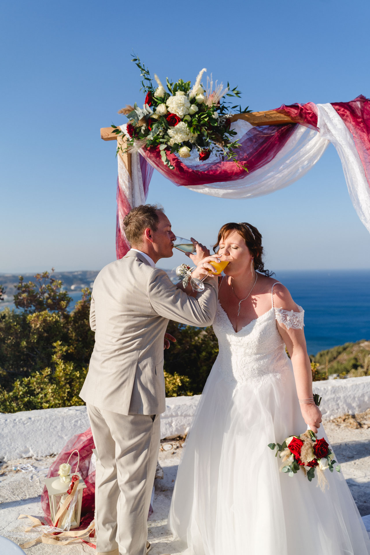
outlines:
[[[277,108],[277,111],[289,115],[294,123],[252,128],[241,120],[232,124],[239,125],[241,147],[237,150],[237,160],[240,164],[228,162],[222,158],[212,158],[212,156],[207,162],[199,162],[196,158],[181,159],[175,154],[169,154],[168,158],[174,166],[174,169],[169,169],[161,160],[159,148],[141,149],[140,170],[145,198],[153,168],[175,185],[195,186],[193,190],[197,190],[199,186],[199,192],[204,194],[227,196],[227,198],[268,194],[275,190],[271,185],[273,180],[276,179],[276,186],[281,188],[304,175],[306,169],[310,169],[325,151],[327,142],[331,141],[341,157],[343,169],[346,166],[344,174],[354,207],[361,221],[370,230],[370,100],[361,95],[351,102],[318,105],[312,102],[283,104]],[[321,136],[318,128],[320,121],[325,128]],[[325,127],[328,122],[330,122],[330,129]],[[303,137],[302,125],[308,128],[307,133],[310,132],[311,135],[306,134]],[[317,141],[316,145],[313,144],[315,137],[318,140],[321,137],[321,150],[317,148]],[[303,145],[305,141],[306,143],[311,141],[312,144],[306,144],[305,147]],[[275,165],[271,164],[275,159]],[[297,160],[298,165],[302,160],[299,171],[296,167]],[[291,168],[293,168],[292,164],[295,164],[295,171],[291,172],[293,177],[288,172],[282,172],[283,164]],[[248,172],[242,168],[242,165],[247,166]],[[247,189],[251,184],[253,192],[249,193]],[[222,190],[222,194],[217,193],[217,189]],[[120,186],[118,182],[117,258],[124,256],[129,249],[122,220],[131,209],[131,204],[123,190],[124,186]],[[138,195],[135,198],[138,198]]]

